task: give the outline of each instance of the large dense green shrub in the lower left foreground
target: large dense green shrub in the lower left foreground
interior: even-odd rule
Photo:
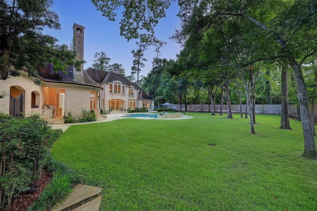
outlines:
[[[49,157],[47,144],[55,138],[39,115],[15,118],[0,114],[0,210],[9,210],[19,193],[38,187]]]

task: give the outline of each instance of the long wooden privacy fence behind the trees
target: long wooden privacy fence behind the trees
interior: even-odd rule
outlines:
[[[201,104],[188,104],[187,111],[189,112],[201,112]],[[309,104],[311,106],[311,104]],[[172,104],[172,105],[163,105],[160,106],[163,108],[174,108],[176,111],[180,110],[179,104]],[[205,104],[204,105],[204,112],[211,112],[211,105]],[[185,111],[185,104],[182,104],[182,111]],[[215,105],[215,112],[220,112],[220,105]],[[223,112],[228,113],[228,106],[227,104],[223,104]],[[232,113],[240,113],[240,105],[231,105],[231,112]],[[242,105],[242,112],[245,113],[245,105]],[[296,105],[289,104],[288,105],[288,112],[290,116],[297,117],[296,113]],[[280,104],[256,104],[256,114],[281,114],[281,105]],[[314,117],[317,117],[317,105],[314,106]]]

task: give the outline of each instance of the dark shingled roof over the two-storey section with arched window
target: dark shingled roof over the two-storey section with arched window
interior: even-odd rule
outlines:
[[[116,74],[112,71],[108,72],[89,67],[85,70],[85,72],[87,72],[90,75],[90,77],[97,83],[109,83],[118,80],[121,83],[126,84],[128,86],[133,86],[134,88],[141,89],[141,87],[138,86],[136,83],[128,80],[126,76]]]

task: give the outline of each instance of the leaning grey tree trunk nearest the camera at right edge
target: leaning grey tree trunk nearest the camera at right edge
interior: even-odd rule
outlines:
[[[304,134],[304,153],[303,157],[316,158],[316,144],[312,130],[312,125],[309,119],[308,109],[308,95],[305,80],[302,74],[301,65],[295,60],[292,54],[287,54],[287,60],[289,65],[294,71],[296,83],[297,83],[297,98],[301,108],[301,124]]]

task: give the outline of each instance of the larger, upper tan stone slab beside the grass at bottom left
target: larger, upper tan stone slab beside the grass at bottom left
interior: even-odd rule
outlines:
[[[101,191],[102,189],[98,187],[78,184],[70,195],[52,208],[52,211],[67,210],[79,204],[81,201],[100,194]]]

